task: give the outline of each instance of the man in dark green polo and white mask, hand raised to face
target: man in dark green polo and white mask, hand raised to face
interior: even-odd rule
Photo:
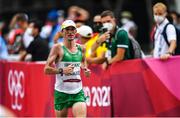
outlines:
[[[131,59],[132,56],[130,55],[130,42],[128,34],[123,29],[118,30],[113,12],[109,10],[102,12],[101,22],[106,32],[103,33],[98,40],[96,40],[92,51],[94,51],[103,42],[106,42],[108,51],[106,52],[104,61],[106,61],[107,64]]]

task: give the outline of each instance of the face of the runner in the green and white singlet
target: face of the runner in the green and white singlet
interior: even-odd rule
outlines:
[[[63,29],[63,35],[65,39],[68,39],[69,41],[74,40],[75,36],[76,36],[76,28],[69,26],[65,29]]]

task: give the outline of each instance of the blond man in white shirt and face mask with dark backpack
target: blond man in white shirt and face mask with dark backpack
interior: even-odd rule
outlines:
[[[162,32],[167,23],[169,23],[166,18],[167,7],[163,3],[156,3],[153,6],[154,20],[156,22],[156,30],[154,34],[154,51],[153,57],[160,58],[161,60],[167,60],[172,56],[176,48],[176,31],[172,24],[169,24],[166,29],[167,40],[170,46],[166,43]]]

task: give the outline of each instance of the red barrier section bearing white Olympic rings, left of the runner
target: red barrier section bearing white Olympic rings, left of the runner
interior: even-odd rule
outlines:
[[[54,77],[42,64],[3,62],[2,103],[17,116],[54,116]]]

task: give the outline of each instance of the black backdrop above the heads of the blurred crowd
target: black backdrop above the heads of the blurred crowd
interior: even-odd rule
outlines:
[[[138,27],[136,40],[143,51],[148,53],[151,49],[152,5],[156,2],[163,2],[168,10],[180,13],[180,0],[0,0],[0,20],[9,24],[14,14],[24,12],[29,18],[36,17],[45,22],[50,10],[63,10],[64,16],[67,17],[68,8],[77,5],[89,12],[90,17],[86,24],[92,26],[94,15],[100,14],[103,10],[114,11],[117,23],[120,23],[122,11],[130,11]]]

